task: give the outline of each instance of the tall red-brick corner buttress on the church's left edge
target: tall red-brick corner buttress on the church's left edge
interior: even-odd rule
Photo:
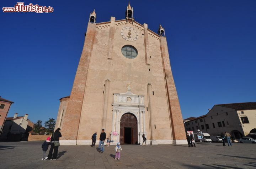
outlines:
[[[94,23],[88,23],[84,48],[70,94],[68,107],[62,127],[62,140],[76,140],[80,123],[82,102],[84,100],[85,85],[91,58],[91,50],[95,36]]]

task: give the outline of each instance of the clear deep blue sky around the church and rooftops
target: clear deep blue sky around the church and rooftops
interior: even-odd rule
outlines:
[[[5,0],[2,7],[14,7]],[[22,1],[53,13],[0,12],[0,96],[15,102],[8,116],[56,118],[70,95],[89,14],[124,19],[128,1]],[[256,1],[130,1],[137,22],[165,28],[183,118],[214,104],[256,101]]]

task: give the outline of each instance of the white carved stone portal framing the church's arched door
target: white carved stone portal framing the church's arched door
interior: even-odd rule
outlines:
[[[121,144],[142,143],[142,135],[146,135],[144,96],[133,94],[127,84],[126,93],[113,94],[112,106],[111,139]]]

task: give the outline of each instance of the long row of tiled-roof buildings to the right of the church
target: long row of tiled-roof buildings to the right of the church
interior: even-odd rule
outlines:
[[[185,122],[185,129],[196,131],[193,125],[198,120],[203,121],[199,125],[203,133],[220,135],[228,132],[234,139],[255,138],[250,133],[256,133],[256,102],[214,105],[206,115]]]

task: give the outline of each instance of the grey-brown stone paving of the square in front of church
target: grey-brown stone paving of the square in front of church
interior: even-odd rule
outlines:
[[[256,144],[233,144],[232,147],[224,147],[222,143],[203,143],[196,147],[122,145],[120,161],[114,159],[114,145],[105,146],[102,154],[89,145],[60,146],[56,161],[41,161],[41,145],[42,141],[0,142],[0,168],[256,168]]]

